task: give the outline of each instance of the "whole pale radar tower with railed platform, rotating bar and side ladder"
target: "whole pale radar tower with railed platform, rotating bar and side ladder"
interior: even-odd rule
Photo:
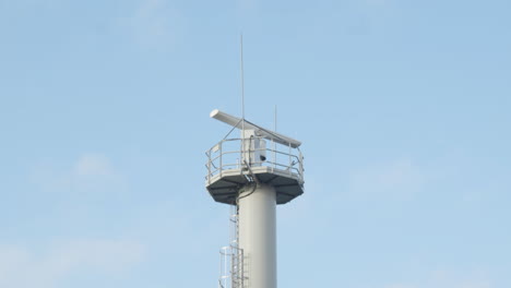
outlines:
[[[301,143],[218,110],[210,116],[241,130],[206,152],[206,189],[233,211],[219,287],[276,288],[276,205],[304,193]]]

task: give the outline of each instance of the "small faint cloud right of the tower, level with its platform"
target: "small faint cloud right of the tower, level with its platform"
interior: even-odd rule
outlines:
[[[399,159],[352,171],[348,191],[356,197],[407,199],[424,181],[424,173],[411,159]]]

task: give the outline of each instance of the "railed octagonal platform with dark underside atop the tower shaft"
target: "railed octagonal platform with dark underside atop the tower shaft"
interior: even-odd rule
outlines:
[[[216,202],[234,205],[240,189],[257,182],[275,189],[276,204],[304,194],[301,152],[290,145],[269,144],[272,147],[266,148],[264,140],[258,136],[245,139],[248,149],[242,151],[242,139],[227,139],[209,149],[205,187],[211,196]]]

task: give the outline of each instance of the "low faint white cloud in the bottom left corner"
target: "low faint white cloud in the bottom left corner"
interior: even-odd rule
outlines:
[[[145,247],[133,241],[80,240],[40,255],[26,248],[0,245],[0,287],[49,288],[71,273],[118,274],[145,257]]]

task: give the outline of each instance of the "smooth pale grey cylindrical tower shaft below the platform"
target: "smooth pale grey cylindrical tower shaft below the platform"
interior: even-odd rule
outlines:
[[[276,193],[268,184],[241,189],[239,248],[243,250],[243,288],[276,288]]]

